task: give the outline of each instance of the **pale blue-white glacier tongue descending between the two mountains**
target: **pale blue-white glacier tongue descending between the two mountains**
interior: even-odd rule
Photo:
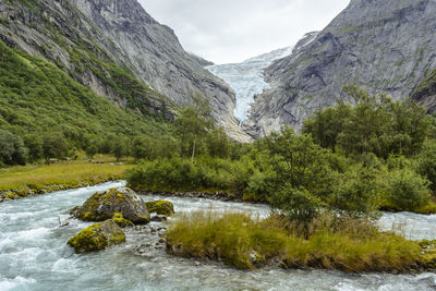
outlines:
[[[316,34],[306,34],[295,46],[295,49],[313,40]],[[264,69],[269,66],[275,60],[291,54],[292,51],[292,47],[287,47],[251,58],[241,63],[216,64],[206,66],[206,69],[226,81],[234,89],[237,93],[234,116],[239,121],[244,121],[255,95],[268,88],[268,84],[265,83],[263,76]]]

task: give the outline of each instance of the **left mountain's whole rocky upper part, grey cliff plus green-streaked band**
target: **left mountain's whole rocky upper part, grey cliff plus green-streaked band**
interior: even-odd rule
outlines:
[[[118,107],[171,120],[199,93],[231,137],[247,137],[232,116],[232,89],[136,0],[7,0],[0,20],[8,46],[56,63]]]

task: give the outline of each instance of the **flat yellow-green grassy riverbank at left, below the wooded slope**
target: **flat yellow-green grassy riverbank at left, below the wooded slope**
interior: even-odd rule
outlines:
[[[52,165],[12,167],[0,170],[0,203],[31,195],[77,189],[116,181],[132,165],[111,159],[61,161]]]

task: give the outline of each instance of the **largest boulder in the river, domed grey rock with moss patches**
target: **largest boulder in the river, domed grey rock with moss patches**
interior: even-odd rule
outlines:
[[[95,193],[75,213],[75,217],[84,221],[104,221],[111,219],[116,213],[120,213],[134,225],[145,225],[150,221],[150,215],[143,199],[129,187]]]

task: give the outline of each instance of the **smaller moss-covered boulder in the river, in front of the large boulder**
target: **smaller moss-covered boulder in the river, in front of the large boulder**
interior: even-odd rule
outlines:
[[[68,244],[74,247],[78,253],[101,251],[110,245],[125,242],[125,234],[119,226],[112,220],[106,220],[95,223],[68,241]]]

